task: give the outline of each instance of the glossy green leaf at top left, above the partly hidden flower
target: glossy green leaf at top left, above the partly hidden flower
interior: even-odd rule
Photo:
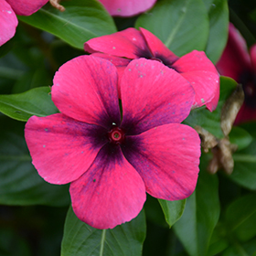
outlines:
[[[112,16],[96,0],[62,1],[61,5],[66,8],[64,12],[48,4],[32,16],[18,16],[18,19],[81,49],[92,37],[116,32]]]

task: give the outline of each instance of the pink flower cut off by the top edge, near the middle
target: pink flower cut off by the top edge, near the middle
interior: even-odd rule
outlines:
[[[111,16],[135,16],[155,5],[156,0],[99,0]]]

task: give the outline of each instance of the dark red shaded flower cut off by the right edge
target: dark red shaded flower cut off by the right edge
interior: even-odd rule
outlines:
[[[242,84],[245,98],[235,123],[256,120],[256,44],[249,54],[244,38],[232,24],[227,46],[216,67],[221,75]]]

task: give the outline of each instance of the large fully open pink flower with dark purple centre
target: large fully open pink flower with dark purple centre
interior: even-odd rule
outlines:
[[[32,116],[25,129],[38,174],[70,182],[75,214],[97,229],[136,217],[145,192],[178,200],[197,184],[200,140],[180,124],[193,88],[162,63],[136,59],[123,71],[120,108],[117,76],[106,59],[71,59],[54,77],[60,113]]]

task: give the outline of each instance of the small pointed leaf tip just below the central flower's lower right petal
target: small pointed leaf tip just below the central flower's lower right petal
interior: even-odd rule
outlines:
[[[186,206],[186,199],[177,201],[158,199],[158,201],[165,214],[165,220],[171,228],[181,218]]]

